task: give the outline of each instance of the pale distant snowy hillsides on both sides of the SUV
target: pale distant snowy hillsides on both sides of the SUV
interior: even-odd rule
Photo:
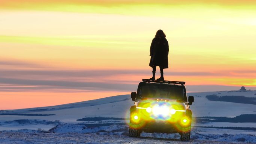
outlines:
[[[201,92],[188,93],[193,95],[195,101],[191,105],[193,117],[201,116],[224,116],[235,117],[240,114],[256,114],[256,105],[240,104],[234,102],[209,101],[206,95],[237,95],[246,97],[256,97],[256,91],[249,92]],[[76,102],[72,104],[56,105],[51,107],[27,108],[10,110],[2,113],[22,113],[22,114],[55,114],[51,116],[0,116],[3,120],[16,119],[42,119],[60,120],[61,122],[77,122],[83,117],[129,117],[129,107],[133,105],[130,95],[111,96],[107,98],[95,99],[91,101]],[[0,113],[1,114],[1,113]]]

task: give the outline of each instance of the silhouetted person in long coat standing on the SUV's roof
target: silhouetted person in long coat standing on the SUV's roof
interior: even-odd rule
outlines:
[[[158,30],[155,38],[152,40],[150,46],[150,62],[149,66],[153,68],[153,76],[150,80],[155,80],[156,66],[159,66],[161,77],[157,80],[164,80],[164,68],[168,68],[168,53],[169,45],[165,39],[164,31]]]

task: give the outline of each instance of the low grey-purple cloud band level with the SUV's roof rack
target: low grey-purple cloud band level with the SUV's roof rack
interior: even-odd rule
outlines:
[[[120,83],[97,83],[97,82],[68,82],[57,80],[24,80],[0,77],[1,83],[9,86],[0,86],[1,91],[20,92],[20,91],[55,91],[55,92],[99,92],[99,91],[135,91],[137,84],[120,84]],[[12,85],[10,85],[12,84]],[[17,85],[26,85],[17,86]],[[210,92],[210,91],[233,91],[239,90],[240,86],[223,86],[223,85],[187,85],[188,92]],[[255,87],[246,87],[255,90]],[[58,90],[56,90],[58,89]],[[61,90],[63,89],[63,90]],[[67,91],[66,91],[67,90]]]

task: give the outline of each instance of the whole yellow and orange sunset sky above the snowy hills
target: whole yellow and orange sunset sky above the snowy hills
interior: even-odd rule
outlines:
[[[0,110],[136,91],[159,29],[165,80],[256,90],[255,18],[253,0],[0,0]]]

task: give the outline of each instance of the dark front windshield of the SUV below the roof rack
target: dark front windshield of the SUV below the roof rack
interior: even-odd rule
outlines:
[[[186,101],[185,87],[159,83],[146,83],[139,91],[141,98],[170,98]]]

